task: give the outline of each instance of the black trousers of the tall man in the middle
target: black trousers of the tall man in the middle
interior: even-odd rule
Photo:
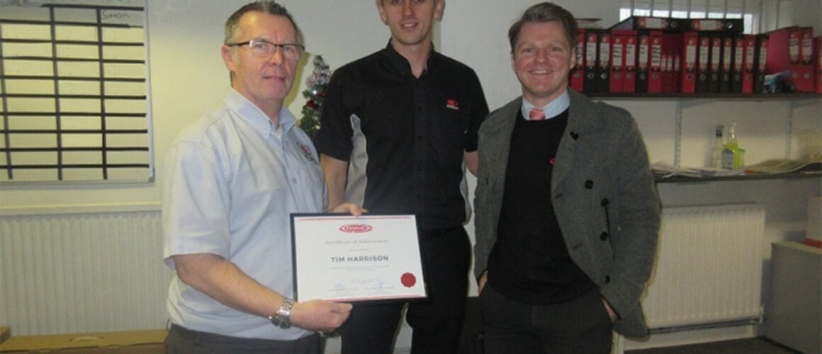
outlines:
[[[471,243],[462,227],[422,232],[427,295],[408,305],[405,319],[413,329],[411,352],[454,353],[465,316]],[[357,304],[340,329],[342,354],[394,351],[394,338],[404,303]]]

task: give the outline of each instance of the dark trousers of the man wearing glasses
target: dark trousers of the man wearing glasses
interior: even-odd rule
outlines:
[[[273,325],[271,330],[275,330]],[[275,341],[198,332],[172,324],[165,339],[165,351],[169,354],[321,354],[322,348],[316,333],[293,341]]]

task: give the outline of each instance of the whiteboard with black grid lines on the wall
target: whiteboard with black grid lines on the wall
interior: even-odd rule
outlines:
[[[152,182],[145,0],[0,0],[0,183]]]

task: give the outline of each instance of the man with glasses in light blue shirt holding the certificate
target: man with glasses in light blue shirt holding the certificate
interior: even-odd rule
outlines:
[[[326,209],[316,150],[284,108],[304,48],[289,12],[252,2],[225,24],[224,105],[183,130],[164,161],[168,352],[321,352],[316,331],[350,304],[295,302],[289,214]],[[333,211],[360,214],[345,203]]]

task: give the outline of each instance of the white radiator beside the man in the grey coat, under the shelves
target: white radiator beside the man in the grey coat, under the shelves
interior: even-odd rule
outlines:
[[[764,218],[764,205],[664,208],[649,329],[759,320]]]

